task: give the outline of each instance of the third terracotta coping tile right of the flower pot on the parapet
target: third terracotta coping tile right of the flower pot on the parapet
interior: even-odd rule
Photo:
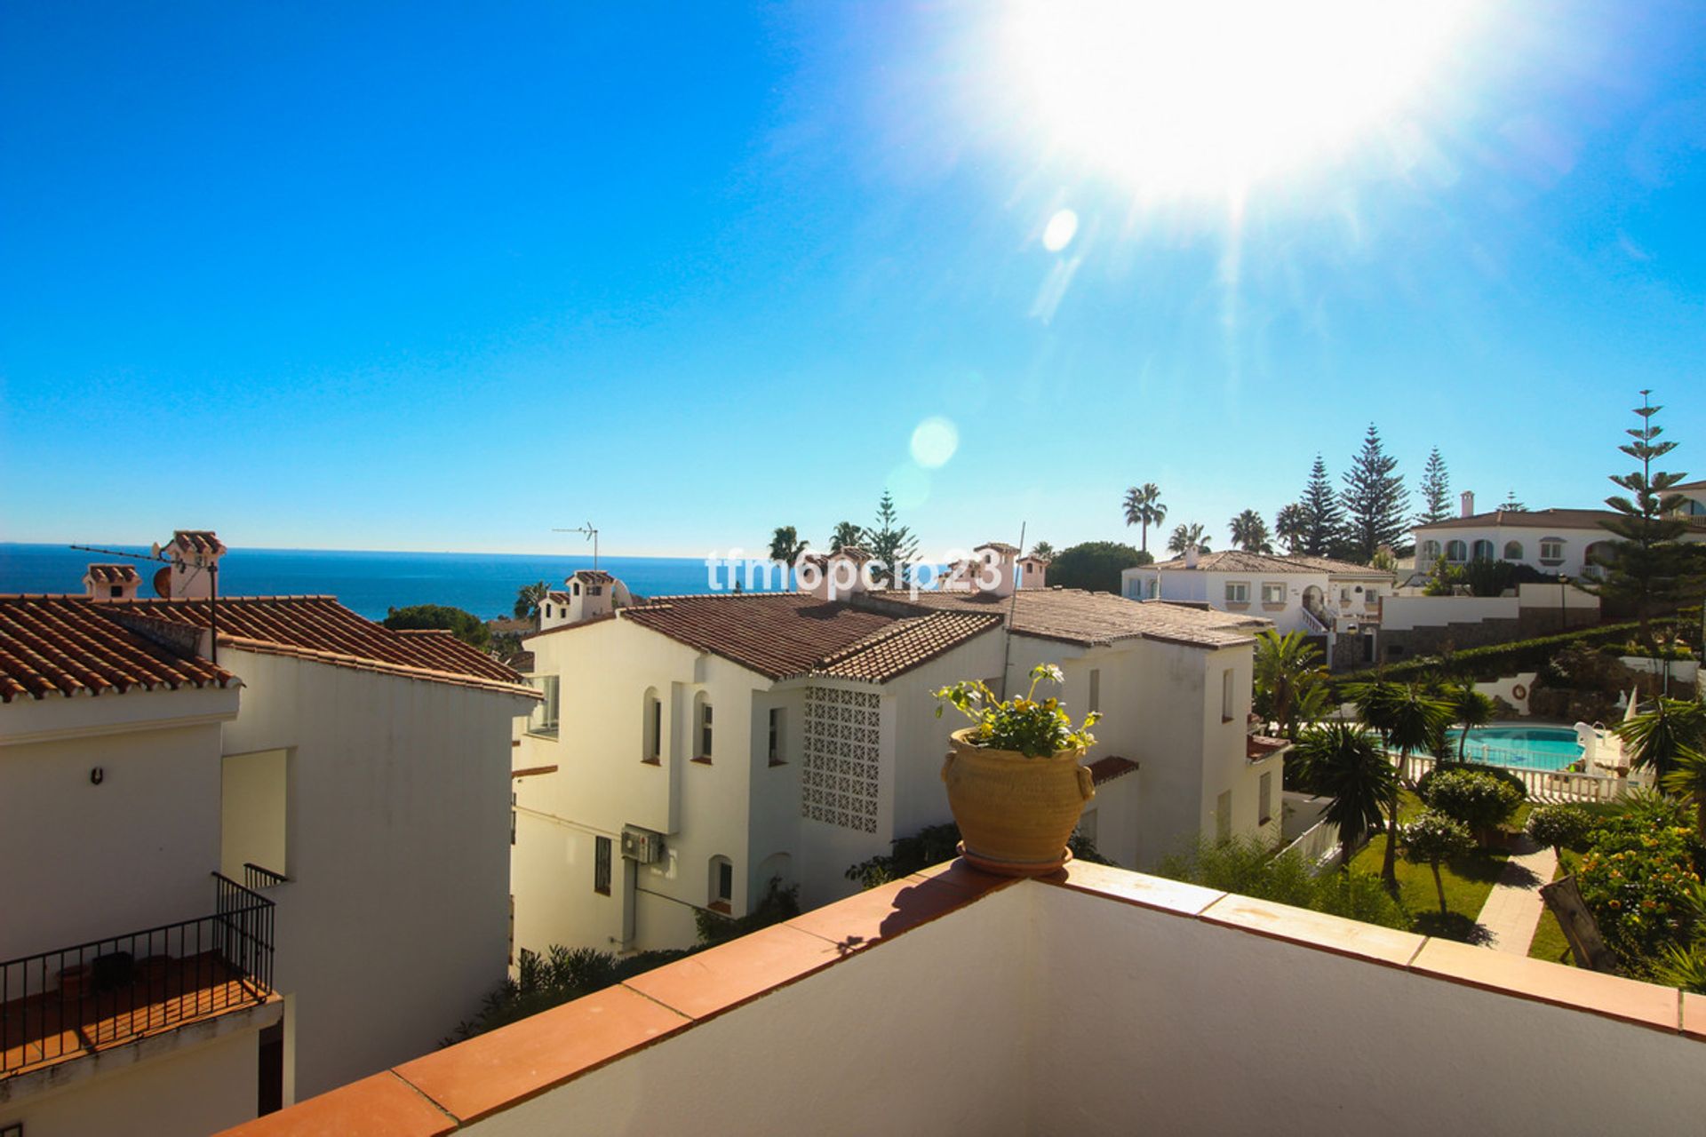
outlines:
[[[1542,960],[1488,951],[1450,939],[1430,939],[1411,963],[1423,975],[1448,978],[1508,996],[1592,1011],[1641,1026],[1679,1030],[1679,992],[1621,975],[1602,975]]]

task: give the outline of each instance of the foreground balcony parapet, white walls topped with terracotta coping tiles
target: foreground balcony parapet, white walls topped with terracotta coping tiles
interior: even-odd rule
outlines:
[[[954,864],[232,1134],[1662,1134],[1699,1128],[1703,1062],[1706,997],[1095,864]]]

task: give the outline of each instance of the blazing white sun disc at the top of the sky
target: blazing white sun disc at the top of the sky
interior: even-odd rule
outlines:
[[[1467,0],[1020,3],[1008,95],[1044,145],[1143,198],[1240,196],[1419,102]]]

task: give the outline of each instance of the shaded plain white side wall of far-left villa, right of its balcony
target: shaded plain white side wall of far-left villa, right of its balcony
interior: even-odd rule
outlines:
[[[290,883],[268,895],[302,1098],[430,1050],[503,980],[508,736],[527,702],[234,649],[220,663],[247,685],[225,752],[290,750],[273,866]]]

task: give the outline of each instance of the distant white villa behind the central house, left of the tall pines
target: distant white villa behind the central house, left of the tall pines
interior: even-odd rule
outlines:
[[[1121,573],[1129,600],[1167,600],[1273,620],[1274,631],[1326,641],[1326,658],[1344,667],[1372,663],[1380,598],[1392,573],[1329,557],[1269,552],[1198,552]]]

